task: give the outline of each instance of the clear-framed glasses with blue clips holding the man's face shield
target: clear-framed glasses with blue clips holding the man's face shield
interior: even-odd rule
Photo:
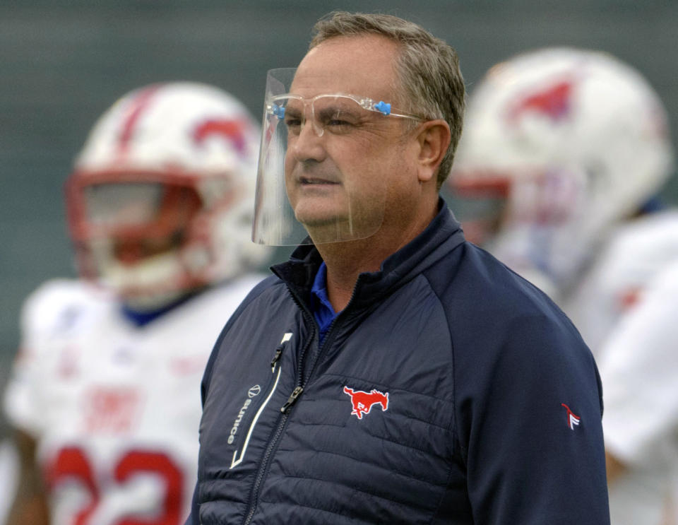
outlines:
[[[379,113],[385,117],[398,117],[422,121],[422,117],[406,113],[394,113],[391,104],[380,100],[357,95],[316,95],[304,98],[301,95],[275,95],[266,105],[269,115],[285,122],[287,132],[292,136],[301,133],[306,123],[306,107],[311,106],[311,122],[316,135],[323,136],[326,130],[332,134],[345,135],[368,122],[370,113]]]

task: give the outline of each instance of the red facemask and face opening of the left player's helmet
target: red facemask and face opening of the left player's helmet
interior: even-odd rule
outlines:
[[[74,175],[69,185],[71,232],[83,273],[134,309],[167,305],[208,284],[215,272],[209,224],[232,199],[223,195],[208,206],[191,184],[195,179],[167,178]]]

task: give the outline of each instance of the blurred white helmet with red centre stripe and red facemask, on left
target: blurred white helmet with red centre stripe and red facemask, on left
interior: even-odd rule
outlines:
[[[242,103],[210,85],[121,98],[66,182],[81,274],[155,309],[263,264],[270,251],[251,242],[258,141]]]

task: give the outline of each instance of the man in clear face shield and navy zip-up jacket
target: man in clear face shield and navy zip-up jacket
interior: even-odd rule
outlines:
[[[309,239],[210,357],[189,523],[608,523],[590,352],[439,199],[463,100],[393,16],[333,13],[269,73],[254,238]]]

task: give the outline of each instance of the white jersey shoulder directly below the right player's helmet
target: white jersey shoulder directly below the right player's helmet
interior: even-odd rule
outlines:
[[[678,261],[678,211],[621,226],[562,307],[596,358],[605,338],[645,286]]]

